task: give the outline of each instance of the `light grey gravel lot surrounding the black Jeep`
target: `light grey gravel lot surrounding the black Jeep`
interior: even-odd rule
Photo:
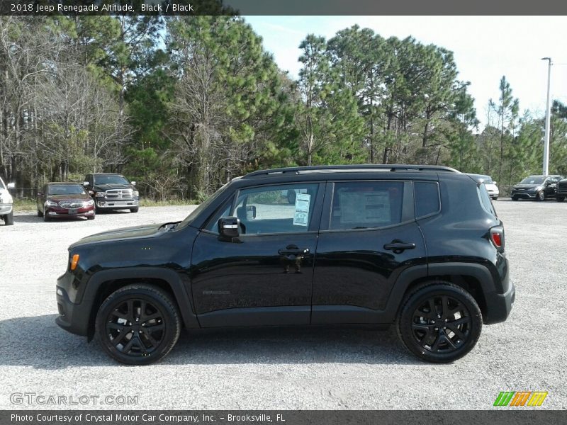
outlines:
[[[162,363],[118,365],[55,324],[67,246],[116,227],[181,220],[193,207],[140,208],[96,220],[0,225],[0,409],[125,408],[12,404],[13,392],[137,396],[130,409],[488,409],[503,390],[549,391],[567,408],[567,203],[498,200],[517,297],[507,322],[483,328],[449,365],[417,361],[393,330],[192,331]],[[499,408],[502,409],[502,408]]]

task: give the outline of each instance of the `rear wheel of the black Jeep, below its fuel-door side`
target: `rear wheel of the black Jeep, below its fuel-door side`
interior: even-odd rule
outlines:
[[[449,363],[465,356],[476,345],[482,327],[481,309],[473,296],[447,282],[415,288],[405,297],[397,326],[408,350],[432,363]]]

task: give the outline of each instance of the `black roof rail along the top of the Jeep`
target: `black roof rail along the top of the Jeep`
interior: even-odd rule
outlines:
[[[279,169],[268,169],[252,171],[246,174],[243,179],[259,176],[273,176],[281,174],[301,174],[302,172],[316,171],[364,171],[364,170],[383,170],[383,171],[439,171],[449,173],[460,173],[461,171],[442,165],[405,165],[405,164],[355,164],[355,165],[313,165],[313,166],[292,166]]]

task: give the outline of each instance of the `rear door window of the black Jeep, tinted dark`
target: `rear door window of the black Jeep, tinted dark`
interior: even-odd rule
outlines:
[[[401,181],[335,183],[330,229],[366,229],[400,223],[403,186]]]

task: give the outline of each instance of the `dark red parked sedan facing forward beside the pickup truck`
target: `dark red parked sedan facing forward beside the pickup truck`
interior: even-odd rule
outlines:
[[[94,200],[79,183],[53,182],[43,185],[36,203],[38,217],[43,221],[52,218],[86,217],[94,220]]]

